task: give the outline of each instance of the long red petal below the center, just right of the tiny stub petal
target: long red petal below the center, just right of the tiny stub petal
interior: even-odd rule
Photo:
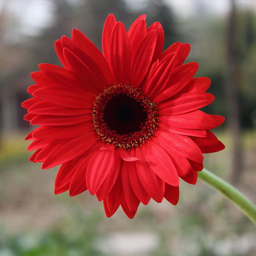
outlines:
[[[150,197],[152,197],[158,203],[162,202],[164,195],[164,182],[157,175],[155,175],[153,170],[147,164],[141,147],[136,148],[136,156],[140,159],[135,164],[141,184]],[[152,158],[154,158],[154,155]]]

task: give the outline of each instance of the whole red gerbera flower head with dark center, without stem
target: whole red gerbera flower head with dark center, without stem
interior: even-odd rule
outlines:
[[[103,200],[106,216],[122,206],[133,218],[140,202],[177,204],[179,177],[195,184],[203,154],[223,150],[209,130],[222,116],[200,110],[214,101],[198,63],[182,65],[190,46],[163,50],[164,32],[145,15],[128,32],[114,15],[105,21],[103,54],[80,31],[55,42],[64,68],[40,64],[23,102],[25,120],[40,125],[27,140],[32,162],[61,164],[55,194],[84,190]]]

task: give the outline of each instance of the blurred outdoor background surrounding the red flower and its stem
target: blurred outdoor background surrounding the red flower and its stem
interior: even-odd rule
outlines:
[[[0,1],[0,256],[13,255],[256,255],[253,224],[222,195],[198,181],[181,181],[177,206],[140,205],[133,220],[118,209],[110,219],[88,192],[54,195],[58,168],[28,161],[20,103],[38,63],[60,65],[54,41],[72,28],[101,47],[106,16],[126,28],[140,14],[159,21],[165,48],[188,42],[197,76],[211,79],[216,100],[205,108],[224,115],[215,131],[226,148],[204,166],[256,203],[256,2],[231,0],[2,0]]]

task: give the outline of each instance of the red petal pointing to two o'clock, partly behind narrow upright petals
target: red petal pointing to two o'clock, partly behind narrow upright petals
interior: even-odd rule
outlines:
[[[198,70],[197,62],[190,62],[182,65],[173,70],[170,76],[169,83],[163,92],[159,93],[153,101],[159,102],[174,96],[176,93],[180,92],[186,84],[193,78]]]

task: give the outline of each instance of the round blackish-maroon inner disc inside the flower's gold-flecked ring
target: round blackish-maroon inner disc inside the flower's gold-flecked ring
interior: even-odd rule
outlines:
[[[110,130],[130,134],[141,130],[147,114],[140,102],[127,95],[118,95],[106,104],[103,119]]]

